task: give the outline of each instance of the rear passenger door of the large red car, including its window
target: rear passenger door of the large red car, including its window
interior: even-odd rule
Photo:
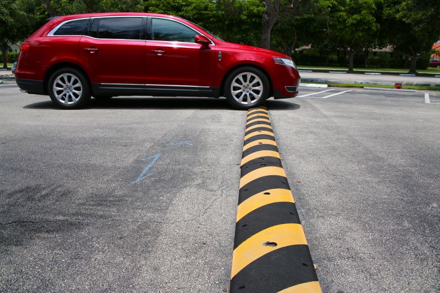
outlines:
[[[92,18],[80,40],[80,62],[96,86],[142,88],[145,83],[145,17]]]

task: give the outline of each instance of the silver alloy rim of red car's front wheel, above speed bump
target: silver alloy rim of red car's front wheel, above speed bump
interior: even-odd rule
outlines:
[[[243,105],[257,103],[263,95],[263,83],[252,72],[239,73],[232,80],[231,94],[235,101]]]

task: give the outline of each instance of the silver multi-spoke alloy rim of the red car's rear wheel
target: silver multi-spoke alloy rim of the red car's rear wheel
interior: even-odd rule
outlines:
[[[77,103],[83,95],[81,81],[71,73],[60,74],[53,82],[52,89],[58,102],[64,105]]]

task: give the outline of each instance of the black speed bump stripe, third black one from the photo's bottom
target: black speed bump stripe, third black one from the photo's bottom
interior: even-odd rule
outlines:
[[[240,188],[239,205],[254,194],[260,193],[267,189],[285,188],[290,189],[287,178],[283,176],[273,175],[264,176],[253,180]]]

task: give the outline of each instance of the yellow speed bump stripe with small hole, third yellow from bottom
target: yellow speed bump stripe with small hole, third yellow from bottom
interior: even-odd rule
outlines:
[[[274,188],[252,195],[238,206],[237,222],[253,210],[268,204],[280,202],[294,203],[295,200],[293,199],[292,191],[289,189]]]

